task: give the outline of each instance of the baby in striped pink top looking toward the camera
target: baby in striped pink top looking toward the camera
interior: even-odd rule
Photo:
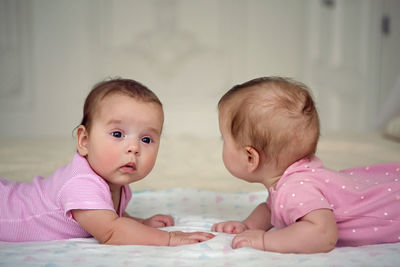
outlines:
[[[97,84],[76,129],[72,162],[32,183],[0,178],[0,240],[44,241],[93,236],[104,244],[177,246],[208,240],[209,233],[167,232],[168,215],[130,217],[129,184],[153,168],[163,127],[160,100],[128,79]]]

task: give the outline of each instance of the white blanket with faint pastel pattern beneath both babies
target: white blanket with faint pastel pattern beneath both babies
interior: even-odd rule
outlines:
[[[266,191],[217,193],[196,189],[136,191],[128,212],[138,217],[171,214],[166,230],[210,231],[226,219],[241,220],[267,197]],[[296,255],[250,248],[233,250],[233,235],[180,247],[111,246],[96,240],[0,242],[0,266],[399,266],[400,243],[335,248],[329,253]]]

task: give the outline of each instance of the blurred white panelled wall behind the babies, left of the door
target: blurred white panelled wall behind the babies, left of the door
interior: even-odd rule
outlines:
[[[17,72],[14,83],[0,82],[0,136],[71,135],[90,87],[109,76],[159,95],[165,134],[219,135],[216,104],[231,86],[301,76],[301,1],[0,3],[19,14],[24,29],[15,31],[27,44],[23,73],[13,57],[0,65],[0,75]]]

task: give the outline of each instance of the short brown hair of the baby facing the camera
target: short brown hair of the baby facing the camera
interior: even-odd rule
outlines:
[[[92,88],[83,106],[83,117],[80,125],[84,125],[90,131],[97,104],[110,94],[123,94],[143,102],[155,103],[162,110],[161,101],[146,86],[134,80],[115,78],[99,82]]]

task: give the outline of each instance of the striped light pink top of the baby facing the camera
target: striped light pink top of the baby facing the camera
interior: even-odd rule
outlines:
[[[131,196],[129,186],[123,186],[119,216]],[[0,177],[1,241],[90,237],[72,218],[74,209],[114,210],[108,184],[78,153],[53,176],[36,176],[32,183],[10,182]]]

